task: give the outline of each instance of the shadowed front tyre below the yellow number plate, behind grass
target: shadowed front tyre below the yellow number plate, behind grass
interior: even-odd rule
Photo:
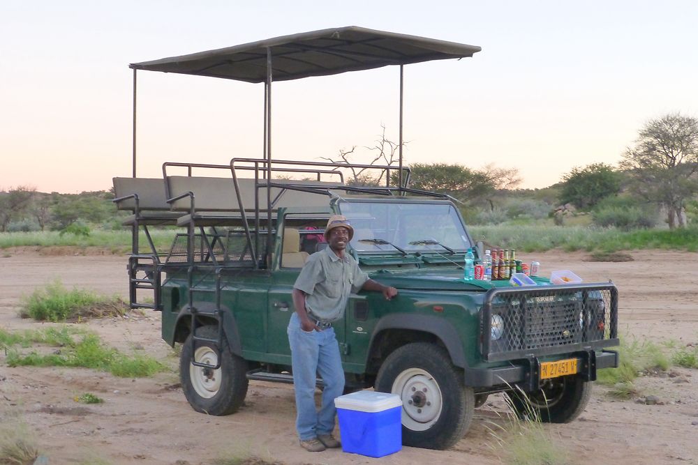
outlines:
[[[569,423],[586,409],[591,398],[592,383],[581,376],[560,376],[547,380],[535,392],[507,392],[512,408],[519,418],[534,413],[547,423]]]

